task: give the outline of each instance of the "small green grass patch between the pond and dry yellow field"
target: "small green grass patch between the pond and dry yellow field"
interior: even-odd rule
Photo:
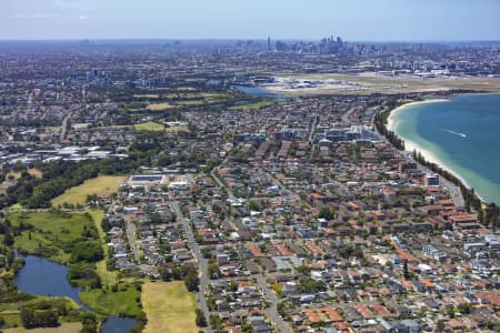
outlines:
[[[140,295],[136,286],[121,284],[117,292],[102,289],[82,291],[80,300],[101,314],[138,316],[141,313],[137,302]]]

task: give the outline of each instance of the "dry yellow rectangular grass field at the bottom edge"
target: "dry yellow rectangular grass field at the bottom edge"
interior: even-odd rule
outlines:
[[[142,306],[148,319],[144,333],[196,333],[197,303],[182,281],[146,282]]]

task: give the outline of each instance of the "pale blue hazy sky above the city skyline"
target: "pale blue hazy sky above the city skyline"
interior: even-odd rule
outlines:
[[[0,0],[0,39],[499,40],[500,0]]]

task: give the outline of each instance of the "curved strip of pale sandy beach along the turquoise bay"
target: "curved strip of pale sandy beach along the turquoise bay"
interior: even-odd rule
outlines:
[[[422,148],[419,143],[411,141],[402,135],[400,135],[399,133],[396,132],[396,125],[397,125],[397,121],[394,121],[393,117],[401,112],[404,111],[404,109],[408,109],[411,105],[417,105],[417,104],[428,104],[428,103],[438,103],[438,102],[449,102],[449,100],[447,99],[431,99],[431,100],[426,100],[426,101],[414,101],[414,102],[409,102],[409,103],[404,103],[396,109],[393,109],[392,111],[390,111],[390,114],[387,119],[387,129],[391,132],[393,132],[398,138],[400,138],[401,140],[404,141],[404,152],[413,152],[417,151],[418,153],[420,153],[422,155],[422,158],[430,162],[430,163],[434,163],[437,164],[439,168],[441,168],[442,170],[451,173],[453,176],[456,176],[463,186],[466,186],[467,189],[472,189],[473,186],[470,185],[470,183],[468,183],[468,181],[466,179],[463,179],[463,176],[457,172],[456,170],[453,170],[453,168],[450,168],[442,159],[439,158],[438,154],[436,154],[432,151],[429,151],[428,149]],[[474,192],[474,194],[479,198],[479,200],[481,200],[483,203],[487,203],[488,201],[484,200],[484,198],[482,198],[478,192]]]

